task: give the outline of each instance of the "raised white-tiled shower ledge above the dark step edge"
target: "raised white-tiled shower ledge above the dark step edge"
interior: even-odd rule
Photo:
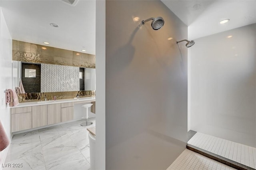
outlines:
[[[188,146],[195,146],[226,160],[256,169],[256,148],[197,132]]]

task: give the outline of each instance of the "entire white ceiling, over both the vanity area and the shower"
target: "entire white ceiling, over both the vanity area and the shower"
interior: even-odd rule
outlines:
[[[0,0],[14,40],[95,54],[95,0]],[[162,0],[196,39],[256,23],[256,0]],[[229,18],[230,22],[219,24]],[[60,27],[54,28],[50,23]]]

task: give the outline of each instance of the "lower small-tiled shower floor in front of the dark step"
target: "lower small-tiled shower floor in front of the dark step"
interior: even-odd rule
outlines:
[[[167,170],[235,170],[220,162],[185,149]]]

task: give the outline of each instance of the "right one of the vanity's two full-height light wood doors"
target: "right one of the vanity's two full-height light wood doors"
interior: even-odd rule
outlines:
[[[47,122],[48,124],[54,124],[61,122],[61,104],[48,104],[47,105]]]

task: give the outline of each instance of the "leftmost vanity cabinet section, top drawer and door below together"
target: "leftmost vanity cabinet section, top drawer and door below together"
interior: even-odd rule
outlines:
[[[18,132],[32,128],[32,107],[11,109],[11,131]]]

